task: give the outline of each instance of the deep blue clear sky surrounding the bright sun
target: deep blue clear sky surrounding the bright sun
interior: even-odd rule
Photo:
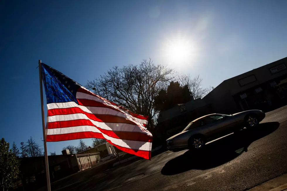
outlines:
[[[0,135],[18,146],[30,136],[43,144],[39,59],[86,85],[151,57],[216,87],[287,56],[286,7],[284,0],[1,1]],[[182,60],[167,51],[178,39],[190,50]],[[69,144],[78,140],[48,142],[48,152]]]

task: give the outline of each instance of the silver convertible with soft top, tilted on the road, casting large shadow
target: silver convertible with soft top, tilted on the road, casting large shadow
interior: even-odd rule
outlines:
[[[184,130],[166,140],[168,150],[202,149],[219,137],[244,127],[254,128],[265,118],[261,110],[248,110],[232,115],[209,114],[190,122]]]

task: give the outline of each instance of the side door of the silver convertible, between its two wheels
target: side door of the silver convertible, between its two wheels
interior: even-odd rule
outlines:
[[[226,116],[215,114],[207,116],[200,122],[202,130],[207,140],[213,140],[223,136],[228,130],[228,121]]]

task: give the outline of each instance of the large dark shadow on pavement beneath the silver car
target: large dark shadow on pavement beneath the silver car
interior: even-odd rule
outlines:
[[[256,129],[243,129],[238,133],[206,144],[200,152],[187,151],[171,159],[162,168],[163,175],[174,175],[191,169],[205,170],[235,159],[254,141],[269,135],[279,127],[278,122],[261,123]]]

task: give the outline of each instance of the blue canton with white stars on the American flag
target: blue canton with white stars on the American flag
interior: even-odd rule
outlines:
[[[76,93],[81,85],[54,68],[41,64],[47,104],[68,101],[78,104]]]

